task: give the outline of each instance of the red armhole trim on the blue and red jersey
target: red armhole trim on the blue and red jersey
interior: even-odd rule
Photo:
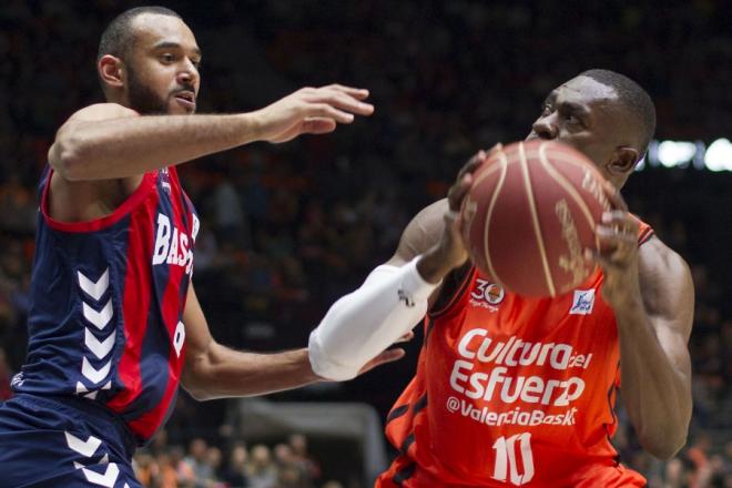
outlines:
[[[101,231],[103,228],[106,228],[119,222],[130,212],[132,212],[132,210],[134,210],[139,204],[142,203],[142,201],[148,196],[150,191],[155,185],[157,171],[145,173],[144,176],[142,177],[142,181],[140,182],[140,185],[138,185],[135,191],[130,196],[128,196],[126,200],[122,202],[120,206],[114,209],[114,212],[100,218],[94,218],[92,221],[83,221],[83,222],[61,222],[54,220],[53,217],[51,217],[51,215],[49,215],[48,199],[49,199],[49,192],[51,191],[52,176],[53,176],[53,169],[49,169],[48,176],[45,179],[45,182],[43,183],[43,191],[41,193],[40,211],[41,214],[43,215],[43,221],[49,227],[53,228],[54,231],[83,233],[83,232]]]

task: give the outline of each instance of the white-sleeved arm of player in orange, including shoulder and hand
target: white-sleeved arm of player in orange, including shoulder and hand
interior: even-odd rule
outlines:
[[[441,279],[468,258],[460,236],[460,204],[472,172],[486,159],[466,164],[446,200],[407,225],[395,255],[376,267],[355,292],[338,299],[311,334],[313,369],[325,378],[348,379],[397,337],[411,331],[441,291]]]

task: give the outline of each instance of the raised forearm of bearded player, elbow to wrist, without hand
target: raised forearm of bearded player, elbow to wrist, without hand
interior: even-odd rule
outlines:
[[[256,140],[253,114],[150,115],[70,123],[49,153],[71,181],[143,174]]]

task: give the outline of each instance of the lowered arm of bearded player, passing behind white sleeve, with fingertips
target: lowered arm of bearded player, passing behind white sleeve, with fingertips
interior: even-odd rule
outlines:
[[[186,353],[181,384],[199,400],[266,395],[323,379],[311,368],[307,349],[258,354],[234,350],[216,343],[209,331],[193,284],[189,288],[183,323]],[[406,336],[401,339],[410,338]],[[404,354],[401,348],[379,352],[358,374],[397,360]]]

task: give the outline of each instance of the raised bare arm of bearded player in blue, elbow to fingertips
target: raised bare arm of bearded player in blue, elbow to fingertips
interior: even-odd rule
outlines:
[[[49,162],[69,181],[135,176],[254,141],[332,132],[354,115],[370,115],[367,96],[367,90],[338,84],[304,88],[255,112],[212,115],[139,115],[115,103],[90,105],[59,129]]]

